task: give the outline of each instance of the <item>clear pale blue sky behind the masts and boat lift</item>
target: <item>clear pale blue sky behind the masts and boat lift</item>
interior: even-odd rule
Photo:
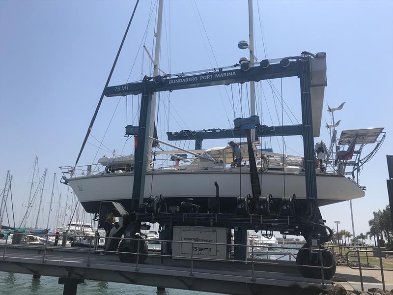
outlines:
[[[112,85],[127,81],[151,3],[140,1]],[[18,214],[25,210],[22,203],[28,197],[27,183],[35,155],[39,156],[40,173],[48,168],[51,177],[54,172],[59,175],[59,166],[75,163],[134,4],[134,1],[0,1],[0,185],[6,171],[11,170]],[[361,174],[361,184],[367,187],[366,197],[353,202],[355,231],[365,233],[372,211],[388,204],[385,157],[393,154],[393,2],[259,1],[258,4],[268,58],[299,55],[302,51],[327,53],[325,109],[326,102],[331,106],[346,102],[344,109],[336,113],[342,119],[339,130],[385,127],[384,146]],[[237,48],[239,40],[248,38],[246,1],[197,1],[197,7],[220,66],[234,64],[247,55]],[[161,47],[163,70],[175,73],[216,66],[196,15],[196,6],[191,1],[172,1],[170,5],[166,1]],[[150,52],[154,18],[153,14],[145,41]],[[256,56],[263,59],[256,1],[254,29]],[[130,81],[140,79],[141,71],[149,73],[150,64],[146,56],[142,59],[141,53]],[[280,87],[280,81],[275,84]],[[233,111],[225,89],[220,88],[224,104],[218,89],[171,93],[171,112],[178,123],[170,118],[170,130],[228,127]],[[277,124],[271,90],[266,84],[263,89],[273,123]],[[234,91],[238,93],[237,86]],[[296,78],[283,80],[283,97],[300,120]],[[129,123],[132,99],[128,98]],[[117,102],[118,98],[104,99],[92,130],[96,138],[103,137]],[[122,98],[104,140],[106,147],[118,152],[124,145],[125,109],[126,100]],[[159,136],[163,137],[168,128],[164,113],[160,114]],[[271,124],[265,102],[263,114],[265,123]],[[329,120],[329,116],[324,110],[323,122],[325,119]],[[284,123],[289,123],[288,118],[284,118]],[[325,128],[321,130],[321,139],[328,140]],[[89,142],[97,144],[92,138]],[[286,143],[302,151],[299,138],[288,138]],[[217,145],[225,142],[205,142],[204,148]],[[274,148],[279,151],[277,146]],[[86,145],[80,164],[90,164],[96,151],[97,148]],[[131,151],[130,141],[124,153]],[[103,154],[108,152],[98,152],[98,156]],[[46,210],[50,183],[47,180],[45,187]],[[66,187],[59,184],[59,189],[64,195]],[[348,202],[321,210],[329,226],[333,227],[333,221],[338,219],[341,228],[352,231]]]

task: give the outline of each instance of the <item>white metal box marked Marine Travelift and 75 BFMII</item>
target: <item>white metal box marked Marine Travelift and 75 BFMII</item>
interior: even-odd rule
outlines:
[[[172,243],[173,259],[190,259],[191,252],[193,252],[193,258],[228,259],[228,246],[209,243],[227,244],[230,241],[228,240],[228,237],[230,237],[229,234],[230,232],[226,228],[174,226]],[[187,243],[176,243],[175,241]],[[194,242],[194,244],[191,242]],[[192,246],[194,247],[193,251],[191,250]]]

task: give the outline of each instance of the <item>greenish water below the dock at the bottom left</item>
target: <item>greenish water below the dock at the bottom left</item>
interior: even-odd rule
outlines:
[[[42,276],[32,279],[32,275],[0,271],[1,295],[62,295],[63,285],[58,278]],[[83,295],[213,295],[212,293],[166,289],[157,291],[156,287],[85,280],[78,285],[78,294]],[[217,294],[215,294],[217,295]]]

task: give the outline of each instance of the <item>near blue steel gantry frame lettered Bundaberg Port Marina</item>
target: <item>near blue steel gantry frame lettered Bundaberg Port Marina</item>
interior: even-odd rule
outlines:
[[[145,77],[142,82],[128,83],[118,86],[106,87],[105,96],[142,95],[140,105],[139,142],[135,151],[135,176],[131,211],[139,209],[143,203],[144,179],[147,162],[147,148],[149,140],[151,97],[153,92],[172,91],[178,89],[190,89],[216,85],[230,85],[233,83],[245,83],[249,81],[298,77],[300,79],[301,105],[302,105],[302,128],[298,128],[299,135],[303,135],[305,174],[306,174],[306,198],[313,219],[318,218],[316,175],[314,169],[314,139],[311,109],[311,57],[303,55],[292,59],[281,59],[280,63],[269,64],[262,61],[259,66],[242,64],[240,68],[202,73],[190,76],[178,76],[175,78],[156,76]],[[296,132],[295,132],[296,133]],[[278,136],[281,133],[276,132]]]

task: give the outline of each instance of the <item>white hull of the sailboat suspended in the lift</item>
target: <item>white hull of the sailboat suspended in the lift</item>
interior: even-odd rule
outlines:
[[[304,174],[297,173],[285,174],[285,176],[276,172],[259,174],[262,195],[283,196],[284,177],[285,195],[296,194],[297,198],[305,199],[305,177]],[[317,174],[316,179],[320,206],[361,198],[365,195],[362,189],[346,177]],[[68,181],[84,208],[88,212],[95,212],[98,211],[101,201],[129,201],[132,196],[134,174],[73,177]],[[144,198],[161,194],[166,199],[194,198],[195,203],[198,204],[198,198],[206,199],[216,195],[214,181],[219,184],[221,198],[236,200],[239,195],[252,194],[248,171],[155,171],[154,175],[146,173]],[[88,204],[94,205],[94,209]]]

